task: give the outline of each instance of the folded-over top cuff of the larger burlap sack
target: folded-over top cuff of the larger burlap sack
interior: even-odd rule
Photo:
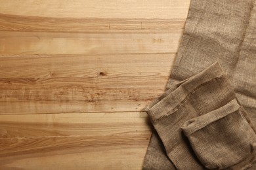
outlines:
[[[182,81],[175,90],[167,90],[158,99],[150,103],[145,110],[153,121],[168,116],[175,112],[177,107],[181,107],[181,103],[186,101],[188,95],[194,93],[197,88],[209,81],[222,78],[223,75],[221,66],[216,61],[197,75]]]

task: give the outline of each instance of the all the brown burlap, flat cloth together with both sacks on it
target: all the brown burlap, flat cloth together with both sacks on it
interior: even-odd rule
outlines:
[[[255,0],[192,0],[143,169],[256,169]]]

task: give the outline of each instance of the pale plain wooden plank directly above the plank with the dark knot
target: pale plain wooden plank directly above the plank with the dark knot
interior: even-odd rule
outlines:
[[[0,54],[137,54],[177,52],[182,31],[41,33],[0,31]]]

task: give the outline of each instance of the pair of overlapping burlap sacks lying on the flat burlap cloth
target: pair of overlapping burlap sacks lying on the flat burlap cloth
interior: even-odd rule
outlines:
[[[255,161],[255,131],[240,108],[216,62],[167,90],[146,111],[177,169],[230,169]]]

